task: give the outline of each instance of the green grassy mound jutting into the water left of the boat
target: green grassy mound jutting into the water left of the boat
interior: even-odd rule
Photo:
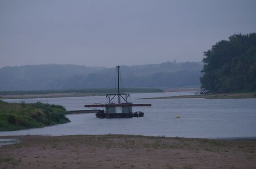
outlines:
[[[21,130],[70,122],[60,105],[7,103],[0,100],[0,131]]]

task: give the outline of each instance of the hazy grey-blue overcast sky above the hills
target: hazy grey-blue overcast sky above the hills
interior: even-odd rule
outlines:
[[[199,62],[256,32],[256,1],[0,0],[0,67]]]

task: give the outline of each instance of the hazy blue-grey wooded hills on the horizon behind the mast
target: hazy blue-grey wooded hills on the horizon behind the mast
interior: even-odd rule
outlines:
[[[200,86],[201,62],[121,66],[123,88]],[[114,88],[116,68],[27,65],[0,69],[0,91]]]

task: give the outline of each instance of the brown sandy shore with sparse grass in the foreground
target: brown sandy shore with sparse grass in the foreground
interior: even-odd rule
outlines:
[[[256,168],[256,140],[136,135],[1,136],[0,168]]]

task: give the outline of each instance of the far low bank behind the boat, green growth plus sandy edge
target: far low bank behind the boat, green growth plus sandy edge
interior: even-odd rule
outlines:
[[[161,89],[153,88],[124,88],[121,92],[126,93],[156,93],[163,92]],[[38,90],[38,91],[0,91],[1,99],[22,98],[50,98],[50,97],[79,97],[79,96],[101,96],[106,93],[116,93],[116,89],[70,89],[70,90]]]

